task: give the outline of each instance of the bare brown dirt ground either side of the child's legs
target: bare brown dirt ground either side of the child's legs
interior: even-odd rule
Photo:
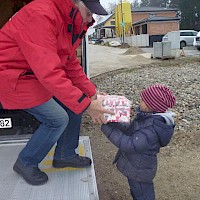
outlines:
[[[140,61],[138,65],[145,64],[142,59]],[[159,66],[160,62],[157,67]],[[92,81],[98,84],[105,76],[106,74],[94,77]],[[112,165],[117,149],[102,134],[100,126],[91,123],[90,117],[84,115],[81,133],[88,135],[91,140],[100,200],[131,200],[126,178]],[[199,129],[195,128],[190,133],[179,130],[170,145],[161,149],[154,180],[156,200],[200,200],[198,133]]]

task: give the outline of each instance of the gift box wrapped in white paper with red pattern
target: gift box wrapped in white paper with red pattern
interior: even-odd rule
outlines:
[[[130,122],[131,101],[124,96],[118,95],[98,95],[103,98],[105,109],[114,111],[115,115],[105,113],[104,116],[108,122]]]

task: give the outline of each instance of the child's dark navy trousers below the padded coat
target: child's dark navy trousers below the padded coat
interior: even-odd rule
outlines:
[[[128,179],[133,200],[155,200],[154,184],[136,182]]]

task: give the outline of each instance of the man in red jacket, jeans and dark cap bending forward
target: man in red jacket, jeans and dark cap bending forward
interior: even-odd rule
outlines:
[[[75,152],[82,113],[101,124],[110,113],[76,58],[92,13],[107,14],[98,0],[34,0],[0,30],[2,107],[23,109],[41,122],[13,167],[29,184],[48,181],[38,164],[56,142],[54,167],[91,165]]]

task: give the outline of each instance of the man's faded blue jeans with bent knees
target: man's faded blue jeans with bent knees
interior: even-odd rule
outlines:
[[[54,159],[65,160],[76,155],[82,114],[76,115],[53,98],[25,111],[41,122],[19,154],[25,166],[38,166],[56,142]]]

